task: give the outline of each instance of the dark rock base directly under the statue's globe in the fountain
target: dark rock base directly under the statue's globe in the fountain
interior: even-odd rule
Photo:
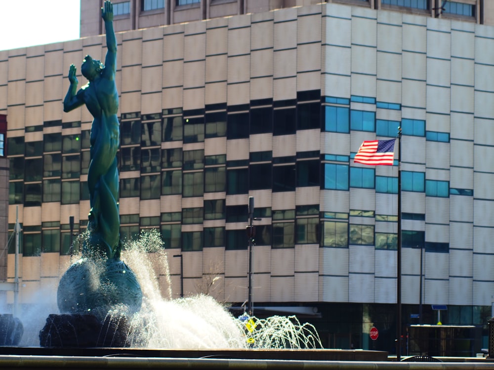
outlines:
[[[132,337],[129,337],[129,332],[134,332]],[[124,315],[108,315],[100,321],[93,315],[51,314],[40,331],[40,345],[58,348],[130,347],[143,344],[135,342],[138,334],[129,330],[129,321]]]

